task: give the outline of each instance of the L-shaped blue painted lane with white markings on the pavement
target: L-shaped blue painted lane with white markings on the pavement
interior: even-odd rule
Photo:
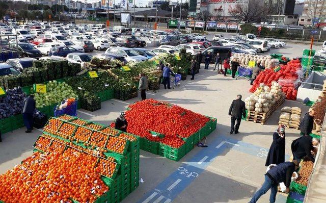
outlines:
[[[227,136],[219,136],[209,143],[207,148],[200,150],[195,156],[189,158],[189,160],[170,174],[170,176],[168,176],[164,181],[159,183],[153,190],[144,195],[138,201],[138,203],[173,201],[186,187],[188,187],[188,185],[190,185],[196,179],[196,177],[198,177],[205,170],[205,168],[207,168],[211,161],[213,161],[217,156],[221,155],[228,148],[241,151],[242,153],[249,154],[260,159],[266,159],[266,153],[268,153],[266,148],[232,139]],[[208,158],[203,160],[205,157]]]

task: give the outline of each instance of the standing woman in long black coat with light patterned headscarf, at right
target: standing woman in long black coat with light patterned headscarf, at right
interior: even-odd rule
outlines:
[[[266,159],[265,166],[270,164],[280,164],[284,162],[285,156],[285,127],[279,125],[273,134],[273,143],[271,143]]]

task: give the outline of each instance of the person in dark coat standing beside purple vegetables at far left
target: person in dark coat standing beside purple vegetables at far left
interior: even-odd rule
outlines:
[[[33,130],[33,114],[36,107],[36,102],[34,99],[34,94],[24,98],[23,101],[24,108],[22,110],[22,117],[24,119],[24,125],[27,131],[25,133],[31,133]]]

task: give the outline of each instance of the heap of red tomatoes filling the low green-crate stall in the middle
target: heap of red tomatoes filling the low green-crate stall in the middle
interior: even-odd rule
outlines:
[[[154,99],[142,100],[129,108],[128,133],[170,146],[181,146],[184,142],[180,137],[193,135],[209,121],[206,116]],[[153,137],[150,131],[165,135],[165,139]]]

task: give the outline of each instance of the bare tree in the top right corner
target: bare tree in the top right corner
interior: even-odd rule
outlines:
[[[312,26],[314,26],[315,18],[320,18],[326,9],[326,0],[307,0],[307,17],[311,19]]]

